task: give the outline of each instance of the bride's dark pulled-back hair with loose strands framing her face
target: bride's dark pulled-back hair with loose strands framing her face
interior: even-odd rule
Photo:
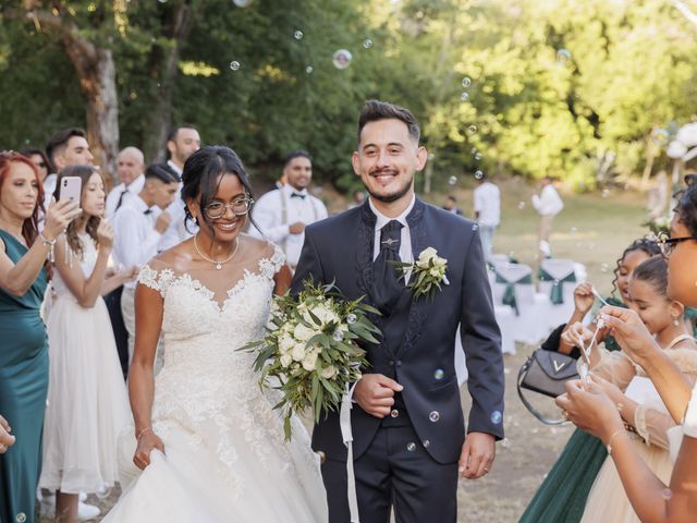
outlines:
[[[253,197],[249,177],[237,154],[223,145],[207,145],[189,156],[184,163],[182,199],[186,204],[188,199],[198,198],[198,205],[205,209],[216,197],[223,174],[237,177],[247,197]],[[194,221],[194,216],[188,207],[185,208],[185,224],[188,226],[188,221]],[[201,212],[201,219],[213,230],[206,212]]]

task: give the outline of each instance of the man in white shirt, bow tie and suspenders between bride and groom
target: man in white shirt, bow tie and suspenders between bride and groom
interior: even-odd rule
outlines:
[[[327,207],[307,191],[313,180],[313,159],[305,150],[285,157],[283,175],[288,183],[259,198],[253,208],[249,233],[278,244],[288,265],[295,269],[305,241],[305,227],[327,218]]]

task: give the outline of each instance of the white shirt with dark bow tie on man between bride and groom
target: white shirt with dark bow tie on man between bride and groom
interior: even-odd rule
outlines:
[[[298,194],[301,197],[293,196]],[[327,218],[327,207],[307,190],[297,191],[290,185],[269,191],[254,206],[253,218],[260,232],[249,227],[249,234],[281,245],[288,264],[297,265],[305,242],[305,233],[291,234],[289,226],[302,221],[306,226]]]

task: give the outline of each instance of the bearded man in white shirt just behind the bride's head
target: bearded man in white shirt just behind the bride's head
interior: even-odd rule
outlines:
[[[198,131],[193,125],[183,124],[170,131],[167,138],[167,154],[169,160],[167,165],[170,166],[174,172],[182,178],[184,171],[184,163],[200,149],[200,136]],[[186,217],[184,212],[184,202],[181,198],[182,184],[179,184],[176,196],[174,202],[167,208],[172,222],[158,245],[158,251],[167,251],[173,247],[178,243],[186,240],[192,235],[192,232],[187,231],[184,227],[184,219]],[[193,227],[193,226],[189,226]]]

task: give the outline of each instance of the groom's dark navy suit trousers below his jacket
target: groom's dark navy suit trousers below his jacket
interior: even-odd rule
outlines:
[[[348,523],[346,463],[328,459],[321,470],[329,523]],[[389,523],[392,506],[396,523],[457,520],[457,462],[433,461],[411,425],[381,426],[354,471],[362,523]]]

